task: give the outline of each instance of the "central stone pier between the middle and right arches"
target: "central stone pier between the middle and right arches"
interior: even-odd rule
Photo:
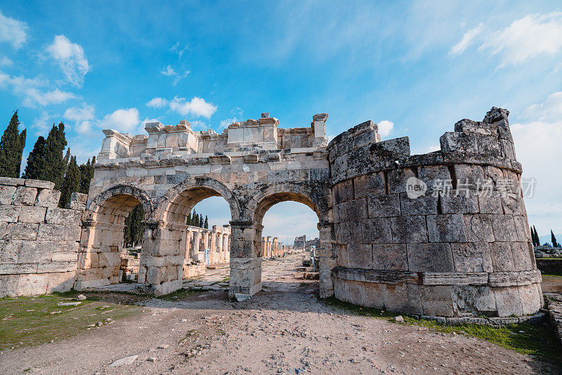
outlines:
[[[252,221],[230,222],[230,289],[236,293],[254,295],[261,290],[261,258],[259,255],[259,224]]]

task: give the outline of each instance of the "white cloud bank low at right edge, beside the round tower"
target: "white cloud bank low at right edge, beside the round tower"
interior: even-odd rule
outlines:
[[[562,144],[562,117],[554,115],[562,112],[559,98],[560,93],[554,93],[544,103],[531,105],[525,114],[532,113],[532,121],[511,125],[517,159],[523,164],[523,178],[536,180],[535,194],[525,198],[529,221],[543,233],[562,230],[559,224],[562,174],[556,173],[552,164],[559,159]]]

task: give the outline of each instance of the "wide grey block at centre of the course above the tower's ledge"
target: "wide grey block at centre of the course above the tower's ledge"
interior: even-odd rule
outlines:
[[[410,272],[454,272],[450,244],[407,244]]]

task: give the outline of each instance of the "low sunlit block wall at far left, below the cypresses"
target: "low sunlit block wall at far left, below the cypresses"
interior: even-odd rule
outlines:
[[[67,291],[77,270],[86,195],[59,209],[48,181],[0,178],[0,297]]]

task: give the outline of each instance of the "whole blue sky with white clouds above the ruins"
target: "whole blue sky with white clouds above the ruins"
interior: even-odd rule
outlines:
[[[261,112],[282,127],[328,112],[329,136],[372,119],[422,153],[459,119],[507,107],[537,180],[530,222],[562,232],[558,1],[0,1],[0,12],[0,113],[7,124],[20,110],[24,157],[60,120],[84,161],[104,128],[188,119],[221,132]],[[315,223],[294,228],[310,209],[292,207],[273,207],[264,232],[315,235]]]

